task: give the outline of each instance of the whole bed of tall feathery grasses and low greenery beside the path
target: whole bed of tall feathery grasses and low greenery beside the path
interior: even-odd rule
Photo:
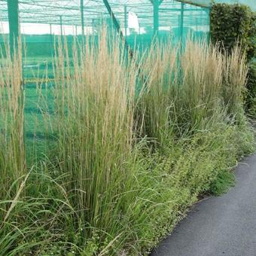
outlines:
[[[27,150],[18,60],[0,72],[0,254],[147,254],[253,151],[239,47],[189,41],[180,54],[158,42],[128,59],[109,40],[56,48],[54,81],[44,78],[53,109],[37,87],[53,137],[40,153]]]

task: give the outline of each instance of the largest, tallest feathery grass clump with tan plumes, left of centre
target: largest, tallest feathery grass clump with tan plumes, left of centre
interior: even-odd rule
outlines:
[[[79,214],[99,228],[117,214],[118,194],[133,177],[127,162],[133,158],[137,71],[134,62],[126,63],[125,47],[108,40],[103,32],[99,47],[75,44],[73,67],[66,45],[59,47],[54,74],[56,164]]]

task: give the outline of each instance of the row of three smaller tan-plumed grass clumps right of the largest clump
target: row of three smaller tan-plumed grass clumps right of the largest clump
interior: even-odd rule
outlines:
[[[148,81],[136,113],[142,134],[158,142],[243,115],[247,66],[239,47],[226,56],[206,41],[187,41],[180,55],[172,44],[157,44],[143,68]]]

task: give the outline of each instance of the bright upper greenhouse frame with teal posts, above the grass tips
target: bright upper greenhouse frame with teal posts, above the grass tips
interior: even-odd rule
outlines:
[[[135,20],[138,24],[137,34],[149,33],[152,37],[160,30],[175,28],[179,30],[179,36],[182,37],[185,27],[194,28],[194,30],[209,30],[210,6],[210,2],[176,0],[122,0],[118,2],[108,0],[10,0],[0,1],[0,20],[6,23],[5,27],[10,28],[11,45],[13,38],[17,37],[20,32],[21,34],[38,34],[41,26],[44,26],[44,34],[50,35],[50,38],[53,34],[90,34],[102,17],[105,19],[111,17],[117,30],[124,36],[130,35],[130,30],[132,30],[130,29],[130,14],[133,15],[132,23]],[[29,31],[27,27],[32,23],[37,24],[38,31],[35,29]],[[67,29],[69,32],[66,32]],[[2,34],[8,33],[5,31],[7,29],[2,30],[4,30]]]

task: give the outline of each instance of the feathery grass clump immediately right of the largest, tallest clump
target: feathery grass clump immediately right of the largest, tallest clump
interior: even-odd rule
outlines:
[[[145,84],[136,101],[139,136],[157,139],[157,143],[172,139],[175,121],[170,116],[178,85],[178,48],[160,42],[152,45],[142,59]]]

